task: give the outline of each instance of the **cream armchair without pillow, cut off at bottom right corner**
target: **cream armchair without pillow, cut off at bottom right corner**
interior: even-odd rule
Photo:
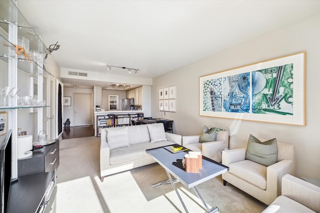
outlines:
[[[320,213],[320,187],[288,174],[281,187],[281,196],[262,213]]]

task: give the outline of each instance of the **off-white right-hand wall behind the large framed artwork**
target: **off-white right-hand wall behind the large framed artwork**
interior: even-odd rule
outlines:
[[[305,127],[199,116],[200,76],[300,51],[306,51]],[[154,78],[151,114],[152,117],[161,116],[158,111],[158,89],[175,85],[176,112],[162,115],[174,120],[175,133],[200,134],[204,125],[224,128],[229,131],[230,148],[246,147],[250,133],[265,139],[275,137],[279,142],[295,145],[297,176],[320,178],[319,67],[320,14]]]

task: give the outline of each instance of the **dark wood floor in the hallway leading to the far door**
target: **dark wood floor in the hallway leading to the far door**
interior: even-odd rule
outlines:
[[[84,138],[90,136],[94,136],[94,129],[92,125],[64,128],[62,133],[62,139]]]

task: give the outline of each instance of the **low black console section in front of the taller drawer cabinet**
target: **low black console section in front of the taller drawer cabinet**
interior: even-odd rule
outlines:
[[[55,186],[55,170],[11,183],[6,213],[42,213]]]

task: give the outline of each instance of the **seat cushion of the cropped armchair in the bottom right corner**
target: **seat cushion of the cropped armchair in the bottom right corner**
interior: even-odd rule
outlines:
[[[285,196],[277,197],[262,213],[315,213]]]

